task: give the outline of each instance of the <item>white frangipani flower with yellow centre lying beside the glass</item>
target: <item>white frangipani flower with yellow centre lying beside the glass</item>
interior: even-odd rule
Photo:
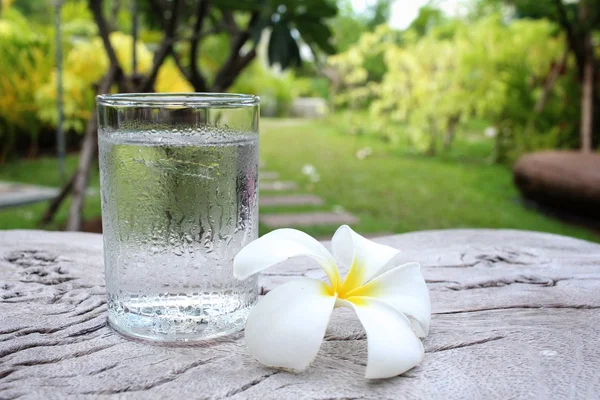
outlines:
[[[429,291],[417,263],[399,265],[400,252],[341,226],[333,236],[333,255],[314,238],[295,229],[278,229],[244,247],[234,274],[246,279],[296,256],[316,260],[329,284],[298,278],[270,291],[246,323],[248,350],[261,363],[296,371],[315,359],[331,312],[352,308],[367,333],[369,379],[396,376],[423,359],[420,337],[431,319]],[[342,281],[338,264],[349,267]]]

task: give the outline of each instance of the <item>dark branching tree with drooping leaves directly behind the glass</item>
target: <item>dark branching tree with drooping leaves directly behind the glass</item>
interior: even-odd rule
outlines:
[[[113,84],[118,86],[120,92],[153,91],[158,71],[169,57],[174,59],[177,67],[196,91],[226,91],[256,58],[257,46],[265,30],[270,31],[269,62],[279,64],[282,69],[300,64],[300,40],[314,50],[320,49],[326,53],[335,51],[329,43],[331,31],[325,21],[336,15],[337,8],[329,0],[140,2],[140,5],[145,4],[148,4],[148,8],[140,7],[140,12],[149,24],[161,27],[164,32],[163,38],[154,52],[152,68],[147,74],[142,75],[137,71],[126,74],[111,43],[111,24],[104,16],[104,1],[88,0],[89,9],[110,61],[108,71],[98,84],[99,94],[108,93]],[[216,74],[209,79],[199,63],[199,57],[206,39],[218,34],[229,38],[227,56]],[[176,44],[185,47],[187,54],[182,56]],[[136,48],[135,44],[132,48]],[[136,59],[135,55],[133,59]],[[47,223],[53,218],[61,202],[72,191],[67,230],[80,230],[89,169],[98,145],[96,118],[96,113],[93,112],[83,139],[77,171],[51,203],[43,222]]]

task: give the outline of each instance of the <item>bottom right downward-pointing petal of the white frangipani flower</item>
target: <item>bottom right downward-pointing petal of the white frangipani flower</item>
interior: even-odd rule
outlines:
[[[346,300],[338,302],[354,309],[367,332],[369,354],[365,378],[400,375],[423,360],[423,344],[404,315],[374,299],[363,299],[357,304]]]

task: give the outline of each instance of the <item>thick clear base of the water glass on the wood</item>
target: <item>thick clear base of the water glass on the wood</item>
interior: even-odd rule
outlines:
[[[244,329],[251,307],[224,315],[148,316],[136,313],[108,314],[108,324],[121,335],[160,343],[197,342],[231,335]]]

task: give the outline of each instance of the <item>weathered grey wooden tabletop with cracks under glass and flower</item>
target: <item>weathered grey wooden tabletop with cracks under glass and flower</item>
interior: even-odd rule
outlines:
[[[433,317],[423,363],[369,382],[365,335],[348,310],[334,311],[301,374],[260,366],[241,335],[195,347],[133,342],[105,323],[100,235],[0,232],[0,398],[600,398],[600,246],[490,230],[378,241],[424,266]],[[323,276],[298,259],[261,286],[302,274]]]

